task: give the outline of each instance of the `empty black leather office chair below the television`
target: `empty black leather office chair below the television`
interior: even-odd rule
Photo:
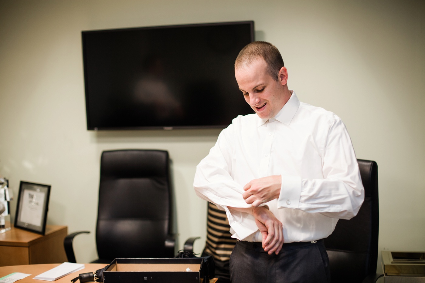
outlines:
[[[99,259],[173,258],[170,160],[164,150],[104,151],[100,161],[96,247]],[[69,262],[75,232],[65,238]]]

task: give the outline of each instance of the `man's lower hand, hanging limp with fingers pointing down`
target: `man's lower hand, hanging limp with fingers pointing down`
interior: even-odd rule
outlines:
[[[284,241],[282,222],[266,207],[255,207],[252,215],[254,215],[255,224],[263,236],[263,249],[269,255],[273,252],[278,255]]]

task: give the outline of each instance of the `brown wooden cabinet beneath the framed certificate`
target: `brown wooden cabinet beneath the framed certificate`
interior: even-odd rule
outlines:
[[[0,266],[65,262],[67,234],[67,226],[47,225],[44,236],[12,227],[0,234]]]

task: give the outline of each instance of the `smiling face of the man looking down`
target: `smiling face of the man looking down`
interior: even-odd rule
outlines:
[[[275,81],[267,73],[267,63],[264,59],[253,61],[246,68],[235,69],[235,77],[239,89],[244,93],[245,101],[258,117],[272,118],[285,105],[287,99],[283,93],[283,85],[286,85],[287,73],[283,80],[279,76],[278,81]]]

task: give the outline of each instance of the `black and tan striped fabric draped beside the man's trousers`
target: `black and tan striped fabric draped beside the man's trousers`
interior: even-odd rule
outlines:
[[[208,203],[207,243],[204,252],[221,261],[229,260],[236,239],[231,238],[226,212]]]

